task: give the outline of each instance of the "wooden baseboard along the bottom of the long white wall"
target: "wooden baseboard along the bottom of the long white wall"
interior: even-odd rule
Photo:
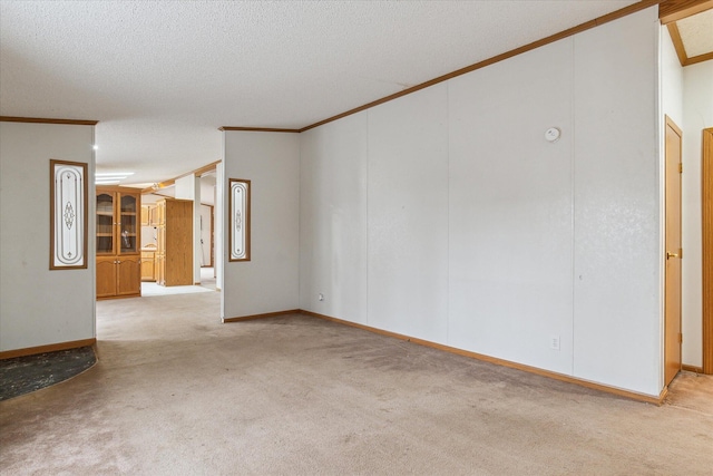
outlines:
[[[586,387],[589,389],[594,389],[594,390],[599,390],[599,391],[604,391],[607,394],[613,394],[619,397],[625,397],[625,398],[629,398],[632,400],[637,400],[637,401],[643,401],[646,404],[653,404],[653,405],[662,405],[664,401],[664,398],[666,398],[666,394],[668,392],[668,388],[664,388],[661,394],[658,395],[658,397],[652,397],[649,395],[645,395],[645,394],[638,394],[635,391],[631,391],[631,390],[624,390],[617,387],[609,387],[603,383],[595,383],[588,380],[583,380],[583,379],[578,379],[576,377],[570,377],[570,376],[566,376],[563,373],[557,373],[557,372],[553,372],[550,370],[544,370],[544,369],[539,369],[537,367],[530,367],[530,366],[526,366],[522,363],[517,363],[517,362],[512,362],[509,360],[504,360],[504,359],[499,359],[497,357],[491,357],[491,356],[486,356],[482,353],[477,353],[477,352],[470,352],[468,350],[462,350],[462,349],[458,349],[455,347],[450,347],[450,346],[443,346],[441,343],[436,343],[436,342],[431,342],[428,340],[423,340],[423,339],[418,339],[418,338],[412,338],[409,336],[404,336],[404,334],[400,334],[397,332],[391,332],[391,331],[385,331],[383,329],[378,329],[378,328],[372,328],[370,326],[364,326],[364,324],[360,324],[356,322],[350,322],[350,321],[344,321],[342,319],[336,319],[336,318],[332,318],[330,315],[324,315],[324,314],[320,314],[316,312],[312,312],[312,311],[305,311],[305,310],[300,310],[301,314],[305,314],[305,315],[311,315],[314,318],[319,318],[319,319],[324,319],[326,321],[331,321],[331,322],[336,322],[340,324],[344,324],[344,326],[349,326],[352,328],[356,328],[356,329],[362,329],[369,332],[374,332],[381,336],[387,336],[387,337],[391,337],[394,339],[399,339],[399,340],[404,340],[407,342],[413,342],[417,343],[419,346],[424,346],[424,347],[430,347],[432,349],[438,349],[438,350],[443,350],[446,352],[450,352],[450,353],[456,353],[458,356],[463,356],[463,357],[469,357],[471,359],[477,359],[477,360],[481,360],[485,362],[489,362],[489,363],[495,363],[497,366],[502,366],[502,367],[509,367],[511,369],[517,369],[517,370],[522,370],[529,373],[535,373],[541,377],[547,377],[547,378],[551,378],[555,380],[559,380],[559,381],[564,381],[567,383],[574,383],[574,385],[578,385],[580,387]]]

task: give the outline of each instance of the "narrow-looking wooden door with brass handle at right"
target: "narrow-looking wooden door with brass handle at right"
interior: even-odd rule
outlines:
[[[664,383],[681,371],[681,129],[666,117]]]

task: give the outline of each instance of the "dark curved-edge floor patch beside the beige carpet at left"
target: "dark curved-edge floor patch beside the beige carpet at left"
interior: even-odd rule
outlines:
[[[96,361],[91,347],[0,360],[0,401],[65,381]]]

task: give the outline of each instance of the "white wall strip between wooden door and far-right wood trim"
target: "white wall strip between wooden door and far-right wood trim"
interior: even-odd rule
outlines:
[[[701,149],[702,130],[713,127],[713,61],[683,68],[683,362],[703,366]]]

